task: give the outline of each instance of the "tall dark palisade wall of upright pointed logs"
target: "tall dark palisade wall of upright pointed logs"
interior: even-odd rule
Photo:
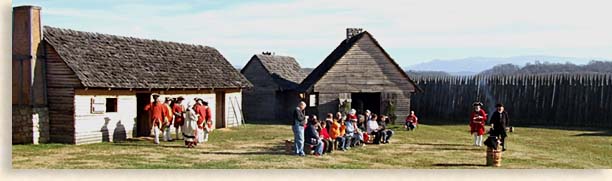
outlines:
[[[412,109],[427,120],[467,123],[472,103],[503,103],[512,125],[612,128],[612,74],[414,76],[425,91]]]

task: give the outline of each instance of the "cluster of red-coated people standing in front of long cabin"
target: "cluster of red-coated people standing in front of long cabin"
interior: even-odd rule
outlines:
[[[174,126],[176,139],[179,139],[179,130],[183,135],[185,146],[195,147],[198,143],[207,142],[208,134],[212,131],[212,113],[208,102],[201,98],[194,98],[184,104],[184,98],[166,97],[161,102],[159,94],[152,94],[153,102],[146,105],[152,124],[154,143],[159,144],[159,134],[162,132],[164,141],[172,141],[170,127]]]

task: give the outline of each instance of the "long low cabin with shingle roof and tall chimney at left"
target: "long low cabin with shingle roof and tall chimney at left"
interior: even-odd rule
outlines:
[[[215,128],[241,124],[252,85],[215,48],[42,26],[40,11],[13,8],[14,144],[150,136],[152,93],[204,99]]]

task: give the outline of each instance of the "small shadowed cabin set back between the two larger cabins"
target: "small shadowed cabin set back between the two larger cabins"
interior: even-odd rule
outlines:
[[[245,118],[288,123],[300,101],[296,89],[307,75],[295,58],[263,52],[253,55],[240,72],[253,84],[242,92]]]

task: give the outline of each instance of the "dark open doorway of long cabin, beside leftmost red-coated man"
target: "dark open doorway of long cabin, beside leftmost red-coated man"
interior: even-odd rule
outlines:
[[[144,107],[151,103],[151,93],[136,94],[136,136],[151,136],[151,121],[149,112]]]

